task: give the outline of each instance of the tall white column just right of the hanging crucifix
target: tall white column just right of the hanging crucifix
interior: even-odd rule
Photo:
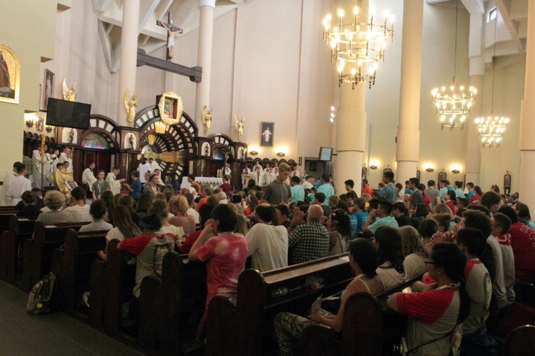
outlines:
[[[210,76],[212,73],[213,11],[215,0],[200,0],[199,46],[197,65],[203,68],[203,79],[195,92],[195,125],[204,136],[203,106],[210,107]]]

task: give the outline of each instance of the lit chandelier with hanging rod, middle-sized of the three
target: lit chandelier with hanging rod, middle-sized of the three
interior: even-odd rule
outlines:
[[[474,105],[477,90],[473,87],[464,90],[461,86],[459,90],[457,85],[457,21],[459,19],[459,0],[457,0],[457,7],[455,9],[455,51],[454,51],[454,74],[452,85],[449,90],[444,86],[440,90],[435,88],[432,92],[432,103],[437,108],[437,116],[440,119],[441,130],[444,127],[449,127],[453,130],[455,127],[464,127],[464,122],[470,115],[470,108]]]

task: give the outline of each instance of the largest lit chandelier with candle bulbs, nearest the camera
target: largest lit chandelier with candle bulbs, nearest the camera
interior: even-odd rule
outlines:
[[[384,48],[387,41],[392,43],[394,35],[393,18],[390,27],[387,14],[382,23],[360,22],[360,8],[355,6],[352,15],[345,16],[343,9],[338,11],[338,21],[332,26],[332,17],[327,14],[323,19],[323,41],[331,48],[331,62],[338,70],[338,86],[343,82],[351,83],[352,88],[358,83],[368,83],[369,88],[375,84],[377,63],[384,62]],[[366,68],[370,64],[371,68]],[[366,71],[368,69],[368,72]]]

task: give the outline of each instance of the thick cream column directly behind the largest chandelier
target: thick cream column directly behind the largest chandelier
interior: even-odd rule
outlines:
[[[364,22],[368,18],[368,0],[363,0],[361,6],[360,18]],[[347,7],[345,10],[349,9],[352,8]],[[333,176],[338,195],[345,192],[344,182],[347,179],[355,181],[355,191],[359,192],[366,145],[366,89],[367,83],[357,84],[355,90],[352,90],[350,83],[342,83],[340,87],[336,125],[337,158]]]

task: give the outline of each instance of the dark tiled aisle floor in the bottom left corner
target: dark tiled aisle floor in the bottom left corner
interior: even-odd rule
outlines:
[[[0,281],[0,355],[143,355],[63,313],[29,315],[27,300]]]

